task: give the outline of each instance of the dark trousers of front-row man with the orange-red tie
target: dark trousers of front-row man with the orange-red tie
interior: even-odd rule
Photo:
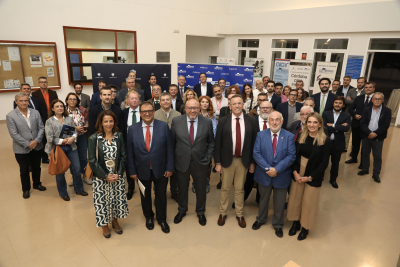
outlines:
[[[153,203],[151,200],[151,183],[154,183],[154,206],[156,207],[156,219],[159,223],[165,222],[167,219],[167,185],[168,178],[161,177],[156,179],[154,177],[153,171],[151,171],[149,180],[140,180],[144,187],[144,196],[140,193],[142,199],[142,210],[143,215],[146,219],[154,218]]]

